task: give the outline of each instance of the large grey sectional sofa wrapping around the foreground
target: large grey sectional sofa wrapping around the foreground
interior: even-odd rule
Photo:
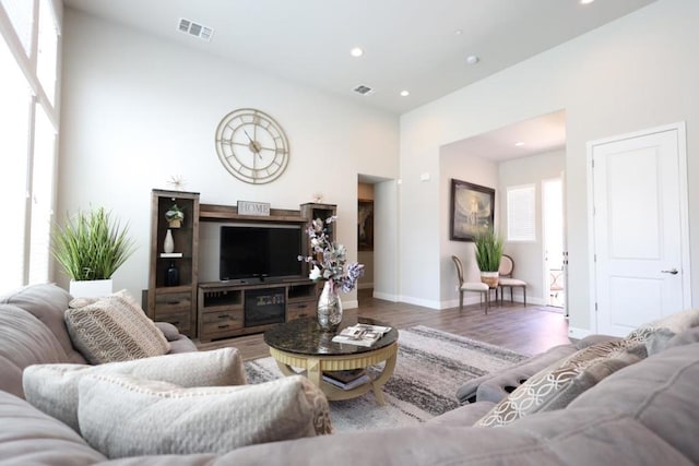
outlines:
[[[475,403],[415,428],[274,441],[220,454],[173,455],[167,454],[167,447],[161,446],[156,454],[109,459],[104,451],[91,446],[67,423],[23,399],[22,371],[25,368],[45,363],[84,363],[62,323],[69,298],[51,285],[42,285],[0,299],[0,465],[699,464],[699,443],[696,442],[699,433],[699,327],[675,327],[665,332],[648,357],[639,356],[638,351],[636,356],[628,356],[629,353],[619,349],[626,345],[613,345],[614,355],[631,358],[630,363],[609,369],[607,377],[567,401],[566,407],[533,413],[503,427],[472,426],[507,399],[494,395],[498,392],[495,387],[502,381],[514,385],[522,382],[517,379],[521,368],[512,369],[512,374],[499,382],[497,375],[479,381],[484,386],[491,385],[490,390],[482,392],[481,401],[478,386],[464,387],[460,395]],[[170,342],[175,342],[174,348],[181,345],[181,348],[192,349],[191,342],[175,335],[171,328],[167,333],[175,338]],[[591,339],[588,346],[594,345]],[[633,348],[639,349],[638,346]],[[578,348],[564,353],[564,359],[574,361],[572,355],[580,359]],[[555,358],[542,360],[555,371],[558,361],[552,365],[552,359]],[[530,380],[536,375],[534,372],[541,372],[541,366],[525,370]],[[589,374],[583,375],[582,382],[590,384]],[[129,383],[123,378],[99,377],[120,386]],[[577,378],[580,379],[580,374]],[[94,378],[90,383],[91,386],[99,384]],[[83,385],[81,390],[90,389],[87,384]],[[509,396],[511,391],[508,389],[502,393]],[[484,399],[488,396],[490,399]],[[138,413],[132,413],[132,418],[137,416]],[[134,427],[134,438],[149,435],[147,423],[154,430],[159,420],[144,419],[145,427]],[[225,423],[221,422],[199,426],[191,435],[202,430],[212,437],[226,435]],[[109,433],[105,429],[103,438],[108,438]]]

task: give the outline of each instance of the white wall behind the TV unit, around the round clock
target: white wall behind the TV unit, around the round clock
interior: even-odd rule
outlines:
[[[146,288],[151,190],[168,188],[173,175],[212,204],[298,210],[320,192],[337,204],[337,238],[357,259],[357,174],[398,178],[395,116],[72,9],[63,35],[59,213],[104,205],[130,223],[139,249],[116,288],[137,297]],[[242,107],[270,113],[289,139],[289,165],[270,184],[238,181],[216,156],[218,122]]]

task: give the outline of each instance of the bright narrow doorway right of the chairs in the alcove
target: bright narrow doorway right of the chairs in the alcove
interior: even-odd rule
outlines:
[[[564,261],[562,177],[542,180],[542,222],[544,243],[544,298],[546,304],[566,310],[566,271]]]

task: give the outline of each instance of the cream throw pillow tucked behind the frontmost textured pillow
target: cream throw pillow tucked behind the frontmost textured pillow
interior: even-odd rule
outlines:
[[[49,416],[79,431],[78,384],[90,374],[126,373],[180,386],[246,383],[240,354],[235,348],[156,356],[99,366],[37,365],[24,370],[26,399]]]

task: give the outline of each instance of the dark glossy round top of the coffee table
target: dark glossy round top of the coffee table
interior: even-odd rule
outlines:
[[[389,326],[384,323],[375,321],[374,319],[345,316],[340,323],[337,332],[356,323]],[[334,343],[332,342],[332,337],[335,335],[336,333],[321,332],[316,318],[306,318],[279,324],[264,332],[264,343],[279,350],[296,353],[298,355],[332,356],[374,351],[398,340],[398,330],[395,328],[391,328],[381,337],[381,339],[369,347]]]

